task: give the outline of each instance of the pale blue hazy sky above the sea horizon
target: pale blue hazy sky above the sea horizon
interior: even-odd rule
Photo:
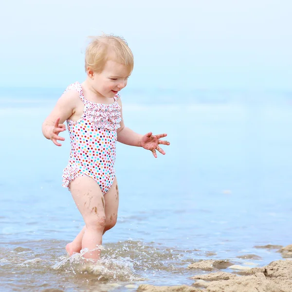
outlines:
[[[292,89],[291,0],[11,0],[0,86],[83,81],[90,35],[126,38],[132,88]]]

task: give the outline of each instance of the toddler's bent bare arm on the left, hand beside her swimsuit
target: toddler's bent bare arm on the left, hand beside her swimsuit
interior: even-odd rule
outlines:
[[[47,139],[52,140],[56,146],[61,146],[57,140],[65,140],[65,138],[58,136],[58,134],[65,131],[66,126],[63,123],[74,114],[79,99],[77,91],[65,92],[58,99],[55,108],[42,124],[43,135]]]

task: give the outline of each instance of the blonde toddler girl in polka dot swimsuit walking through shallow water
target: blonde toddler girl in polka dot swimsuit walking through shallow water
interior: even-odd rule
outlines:
[[[140,146],[157,157],[165,154],[160,144],[166,134],[140,135],[125,127],[122,102],[118,94],[127,86],[134,59],[121,37],[94,37],[85,53],[87,78],[67,87],[42,125],[43,135],[61,146],[67,120],[71,151],[63,171],[63,186],[68,187],[85,226],[66,250],[71,256],[88,249],[83,256],[98,259],[103,234],[117,221],[119,191],[114,162],[116,142]]]

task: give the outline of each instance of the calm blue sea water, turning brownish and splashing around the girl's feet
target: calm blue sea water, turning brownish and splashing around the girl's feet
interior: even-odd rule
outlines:
[[[150,101],[125,94],[126,125],[166,132],[171,146],[155,160],[118,145],[119,217],[97,264],[65,253],[83,221],[61,187],[69,141],[56,147],[41,134],[53,96],[2,96],[1,291],[191,284],[200,272],[186,267],[199,259],[242,264],[251,259],[237,256],[254,254],[259,266],[280,259],[276,249],[254,247],[292,243],[292,99],[225,93],[189,93],[179,103],[174,92],[156,92]]]

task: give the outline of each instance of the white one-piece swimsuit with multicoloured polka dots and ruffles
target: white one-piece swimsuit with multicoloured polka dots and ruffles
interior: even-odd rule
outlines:
[[[115,178],[117,129],[122,121],[121,107],[117,103],[120,95],[114,97],[112,104],[98,104],[85,99],[79,82],[69,85],[65,92],[72,90],[79,92],[84,110],[78,121],[67,120],[71,151],[62,186],[70,189],[73,179],[89,176],[105,194]]]

